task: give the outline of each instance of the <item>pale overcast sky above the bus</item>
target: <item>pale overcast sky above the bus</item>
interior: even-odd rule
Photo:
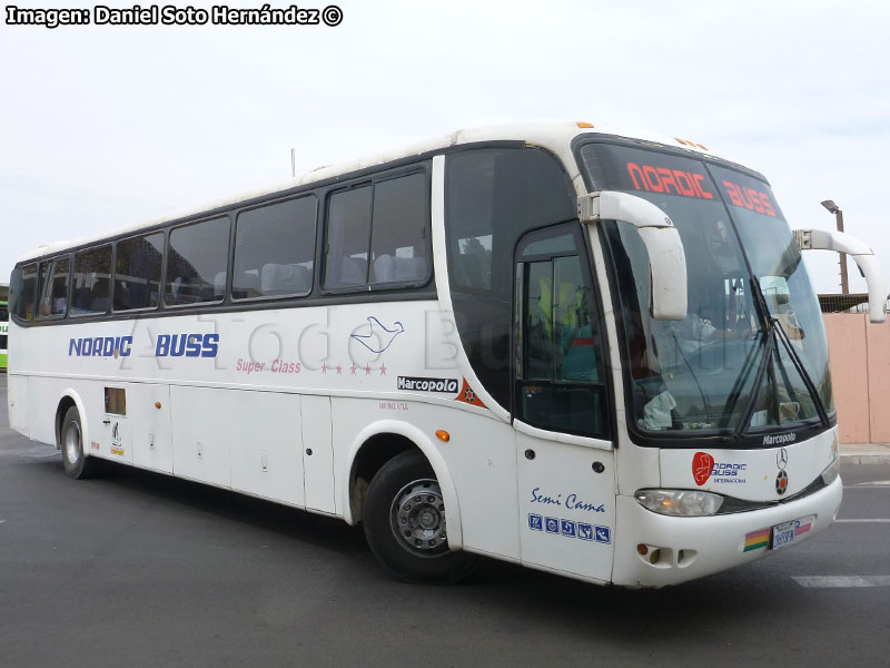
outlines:
[[[464,127],[562,119],[661,131],[753,167],[792,228],[833,228],[820,206],[833,199],[890,286],[890,3],[333,1],[336,27],[0,23],[0,283],[40,244],[287,179],[291,147],[301,173]],[[840,292],[837,255],[807,265],[819,292]],[[853,267],[851,292],[864,292]]]

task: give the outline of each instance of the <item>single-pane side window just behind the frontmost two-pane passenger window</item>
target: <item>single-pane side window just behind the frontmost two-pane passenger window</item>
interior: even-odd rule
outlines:
[[[315,268],[315,196],[270,204],[238,215],[235,299],[307,295]]]

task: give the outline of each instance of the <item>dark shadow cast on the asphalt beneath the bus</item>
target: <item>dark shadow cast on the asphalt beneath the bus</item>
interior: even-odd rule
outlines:
[[[150,500],[206,513],[224,523],[271,532],[284,539],[276,543],[277,549],[287,549],[293,542],[295,550],[303,546],[337,553],[348,562],[350,587],[376,596],[404,596],[406,587],[423,587],[389,577],[370,553],[360,528],[348,527],[339,519],[127,466],[115,466],[108,477],[81,483],[66,479],[58,459],[43,458],[32,464],[41,477],[95,485],[100,494],[116,499]],[[520,629],[538,628],[546,620],[546,626],[558,627],[562,633],[607,636],[610,642],[629,647],[639,645],[643,630],[650,646],[675,644],[691,628],[718,637],[762,621],[764,610],[769,618],[781,619],[812,605],[805,590],[787,573],[760,562],[675,587],[631,590],[482,559],[478,570],[462,584],[423,587],[423,597],[429,605],[439,601],[465,609],[483,608]]]

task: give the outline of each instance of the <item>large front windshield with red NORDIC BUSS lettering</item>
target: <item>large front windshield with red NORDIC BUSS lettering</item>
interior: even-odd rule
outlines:
[[[631,225],[604,228],[631,428],[756,434],[833,415],[819,303],[769,185],[710,161],[613,144],[589,144],[581,156],[597,190],[661,207],[686,256],[686,318],[655,321],[645,246]]]

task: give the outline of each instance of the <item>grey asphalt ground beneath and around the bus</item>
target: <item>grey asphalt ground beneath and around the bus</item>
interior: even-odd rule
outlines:
[[[843,470],[840,518],[883,521],[679,587],[494,561],[422,587],[339,521],[131,469],[70,480],[0,386],[3,668],[890,666],[888,465]]]

